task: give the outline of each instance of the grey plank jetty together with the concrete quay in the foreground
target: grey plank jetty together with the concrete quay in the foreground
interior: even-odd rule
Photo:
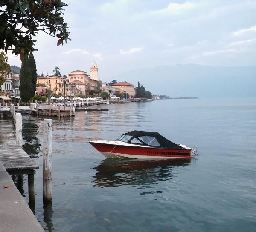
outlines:
[[[38,167],[20,146],[15,143],[0,144],[0,232],[44,231],[33,214],[35,211],[34,169]],[[10,176],[18,175],[19,180],[22,181],[23,174],[29,176],[30,209]]]

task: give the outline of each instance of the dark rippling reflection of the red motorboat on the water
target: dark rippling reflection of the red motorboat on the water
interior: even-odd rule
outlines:
[[[96,171],[92,182],[99,187],[153,184],[172,180],[172,169],[175,166],[190,163],[191,160],[106,159],[94,168]]]

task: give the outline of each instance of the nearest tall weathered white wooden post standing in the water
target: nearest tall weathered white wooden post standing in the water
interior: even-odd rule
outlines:
[[[43,150],[43,198],[44,202],[50,202],[52,201],[52,119],[44,119]]]

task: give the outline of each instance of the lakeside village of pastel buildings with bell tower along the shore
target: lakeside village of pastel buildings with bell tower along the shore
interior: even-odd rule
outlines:
[[[98,67],[92,63],[90,75],[82,70],[71,71],[61,76],[60,69],[55,67],[54,74],[44,76],[37,75],[35,85],[35,96],[25,103],[20,97],[20,68],[11,66],[12,72],[4,77],[4,83],[1,86],[0,103],[3,105],[19,104],[20,106],[32,101],[40,103],[64,103],[64,102],[85,102],[87,104],[77,104],[75,106],[88,106],[90,102],[104,102],[106,99],[111,102],[128,102],[128,101],[150,101],[152,100],[151,92],[147,91],[143,85],[135,87],[126,81],[111,83],[102,83],[98,77]],[[158,98],[158,96],[157,96]],[[156,99],[157,99],[156,98]]]

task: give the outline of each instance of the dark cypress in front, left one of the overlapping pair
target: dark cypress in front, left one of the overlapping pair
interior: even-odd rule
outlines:
[[[31,72],[29,68],[29,60],[25,55],[20,68],[20,97],[21,101],[29,102],[29,99],[35,95],[33,93],[33,83],[31,81]]]

